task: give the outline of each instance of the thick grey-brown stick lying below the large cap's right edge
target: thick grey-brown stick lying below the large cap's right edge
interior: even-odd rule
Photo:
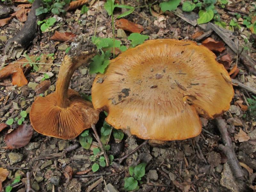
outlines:
[[[236,157],[235,150],[232,145],[232,141],[229,137],[229,133],[226,127],[226,122],[221,117],[215,119],[217,127],[220,131],[221,138],[224,145],[220,145],[219,148],[222,150],[228,159],[228,164],[233,171],[234,176],[236,179],[244,180],[244,172],[239,164],[239,161]]]

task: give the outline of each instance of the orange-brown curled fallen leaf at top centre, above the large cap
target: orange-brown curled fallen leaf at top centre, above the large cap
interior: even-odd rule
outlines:
[[[115,22],[116,28],[124,29],[132,33],[140,33],[144,30],[143,26],[133,23],[127,19],[119,19]]]

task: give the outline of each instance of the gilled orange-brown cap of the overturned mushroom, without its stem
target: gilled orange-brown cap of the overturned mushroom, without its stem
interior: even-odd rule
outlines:
[[[37,132],[62,139],[73,139],[84,129],[97,123],[99,112],[77,92],[68,90],[70,105],[67,108],[57,106],[57,98],[54,92],[46,97],[38,97],[33,103],[29,117]]]

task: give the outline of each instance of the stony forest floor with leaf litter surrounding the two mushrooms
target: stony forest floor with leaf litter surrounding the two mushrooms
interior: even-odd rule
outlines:
[[[9,2],[4,2],[4,4],[8,4],[14,9],[14,7],[21,3],[24,4],[24,2],[26,3],[26,1],[14,1],[12,4]],[[229,34],[229,41],[235,42],[237,47],[243,47],[243,53],[252,60],[242,57],[241,52],[234,52],[229,47],[230,45],[222,40],[220,34],[209,28],[209,23],[206,23],[203,27],[197,25],[192,13],[197,15],[198,7],[191,14],[185,14],[182,17],[177,10],[162,12],[158,1],[125,0],[118,3],[135,7],[135,10],[124,18],[143,26],[142,35],[149,36],[149,39],[187,39],[196,41],[198,44],[204,42],[203,44],[206,47],[212,47],[211,50],[214,51],[217,57],[222,56],[218,57],[218,61],[225,65],[232,78],[251,88],[251,90],[248,90],[247,88],[234,86],[235,95],[230,109],[222,115],[222,118],[227,122],[227,129],[235,155],[242,166],[244,184],[253,190],[256,189],[256,132],[254,129],[256,126],[256,100],[254,99],[256,98],[253,99],[253,92],[255,95],[256,90],[256,76],[255,73],[253,75],[253,72],[248,70],[250,68],[248,63],[253,61],[252,65],[255,66],[256,35],[253,34],[253,26],[247,28],[243,23],[246,20],[245,17],[247,17],[247,20],[250,17],[252,24],[256,20],[256,4],[253,0],[231,0],[223,8],[223,4],[220,4],[220,2],[222,1],[217,1],[214,9],[219,14],[220,20],[227,24],[225,28],[229,32],[226,33],[226,36]],[[74,10],[67,11],[66,15],[45,14],[45,19],[54,17],[57,22],[50,26],[46,32],[41,32],[40,27],[38,27],[34,40],[26,48],[28,56],[25,58],[27,60],[33,55],[41,55],[36,67],[25,67],[23,69],[28,82],[25,81],[23,86],[13,86],[15,80],[12,76],[1,79],[0,167],[8,171],[7,178],[3,179],[4,171],[0,170],[2,190],[26,191],[26,188],[28,188],[26,173],[30,172],[31,185],[36,191],[125,191],[124,179],[131,177],[129,167],[145,163],[145,173],[140,172],[142,175],[141,180],[138,179],[139,188],[136,189],[137,191],[241,191],[239,182],[232,175],[226,155],[220,150],[223,140],[215,120],[201,118],[203,130],[196,138],[166,141],[163,144],[147,143],[127,157],[121,164],[113,162],[108,167],[100,166],[96,172],[92,171],[92,165],[95,162],[91,161],[91,157],[95,153],[93,148],[98,147],[97,140],[94,137],[92,137],[91,148],[87,150],[80,145],[78,137],[72,140],[62,140],[33,131],[31,137],[28,138],[28,135],[24,135],[24,133],[13,133],[19,126],[24,128],[30,125],[29,112],[35,98],[39,94],[46,96],[55,91],[60,64],[72,43],[70,36],[72,38],[80,34],[93,36],[97,20],[96,36],[102,38],[113,37],[111,16],[104,9],[105,3],[97,0],[89,1],[86,4],[89,10],[85,13],[81,13],[82,6],[79,6]],[[180,10],[182,3],[178,7]],[[116,17],[125,11],[124,8],[116,8],[114,10],[115,20],[118,20]],[[26,14],[28,13],[23,12],[22,17]],[[185,21],[186,17],[187,21],[190,21],[189,23]],[[210,22],[214,23],[213,20]],[[13,16],[8,24],[1,27],[0,57],[4,58],[7,41],[14,37],[23,25],[24,22]],[[122,45],[127,46],[131,42],[127,37],[132,32],[121,29],[123,28],[122,25],[122,23],[115,24],[115,36],[117,40],[122,42]],[[67,32],[68,39],[52,40],[51,37],[55,31]],[[209,37],[215,40],[210,45]],[[25,54],[22,53],[22,55]],[[24,59],[22,56],[21,58]],[[47,63],[47,65],[43,63]],[[0,77],[1,75],[3,76],[0,72]],[[12,75],[12,73],[9,75]],[[89,68],[83,65],[75,71],[70,88],[80,94],[90,95],[95,76],[96,74],[90,74]],[[50,81],[50,84],[42,85],[43,77],[46,79],[45,81]],[[26,111],[27,116],[24,115],[24,112],[21,113],[22,111]],[[42,111],[43,114],[44,111]],[[96,124],[99,134],[105,117],[104,113],[100,113],[100,121]],[[10,119],[13,119],[13,122],[10,122]],[[20,122],[18,122],[19,120]],[[18,123],[22,125],[18,125]],[[5,126],[6,124],[10,125]],[[90,130],[90,132],[92,131]],[[8,136],[9,141],[7,142],[9,143],[5,142],[8,140],[8,138],[5,138],[8,134],[12,134]],[[112,154],[114,158],[128,154],[143,143],[143,140],[127,134],[124,134],[124,138],[119,143],[115,139],[113,134],[110,133],[108,154]],[[17,143],[17,141],[20,141],[20,143]],[[17,146],[13,144],[15,142]],[[28,144],[22,146],[24,142]],[[63,149],[74,145],[76,147],[72,150],[68,149],[66,153],[65,150],[63,151]],[[4,148],[6,146],[7,148]],[[105,189],[106,186],[108,186],[108,190]],[[249,189],[245,191],[249,191]]]

